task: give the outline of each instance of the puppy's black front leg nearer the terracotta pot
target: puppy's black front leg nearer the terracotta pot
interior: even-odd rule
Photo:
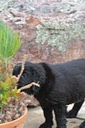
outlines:
[[[42,109],[43,109],[43,114],[45,117],[45,122],[41,124],[39,128],[52,128],[52,125],[53,125],[52,108],[46,107]]]

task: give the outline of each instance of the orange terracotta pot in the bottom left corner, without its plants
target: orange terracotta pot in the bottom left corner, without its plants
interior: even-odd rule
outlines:
[[[24,122],[27,117],[27,112],[28,110],[26,108],[24,114],[20,118],[7,123],[0,124],[0,128],[23,128]]]

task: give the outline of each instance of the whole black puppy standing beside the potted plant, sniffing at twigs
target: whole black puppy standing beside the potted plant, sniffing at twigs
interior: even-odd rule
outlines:
[[[18,76],[21,63],[14,67],[13,75]],[[40,88],[32,86],[24,90],[34,94],[43,109],[45,122],[39,128],[52,128],[53,115],[57,128],[66,128],[66,105],[75,103],[67,117],[75,117],[85,98],[85,59],[73,60],[63,64],[25,63],[19,79],[18,88],[39,82]],[[85,128],[85,121],[80,125]]]

